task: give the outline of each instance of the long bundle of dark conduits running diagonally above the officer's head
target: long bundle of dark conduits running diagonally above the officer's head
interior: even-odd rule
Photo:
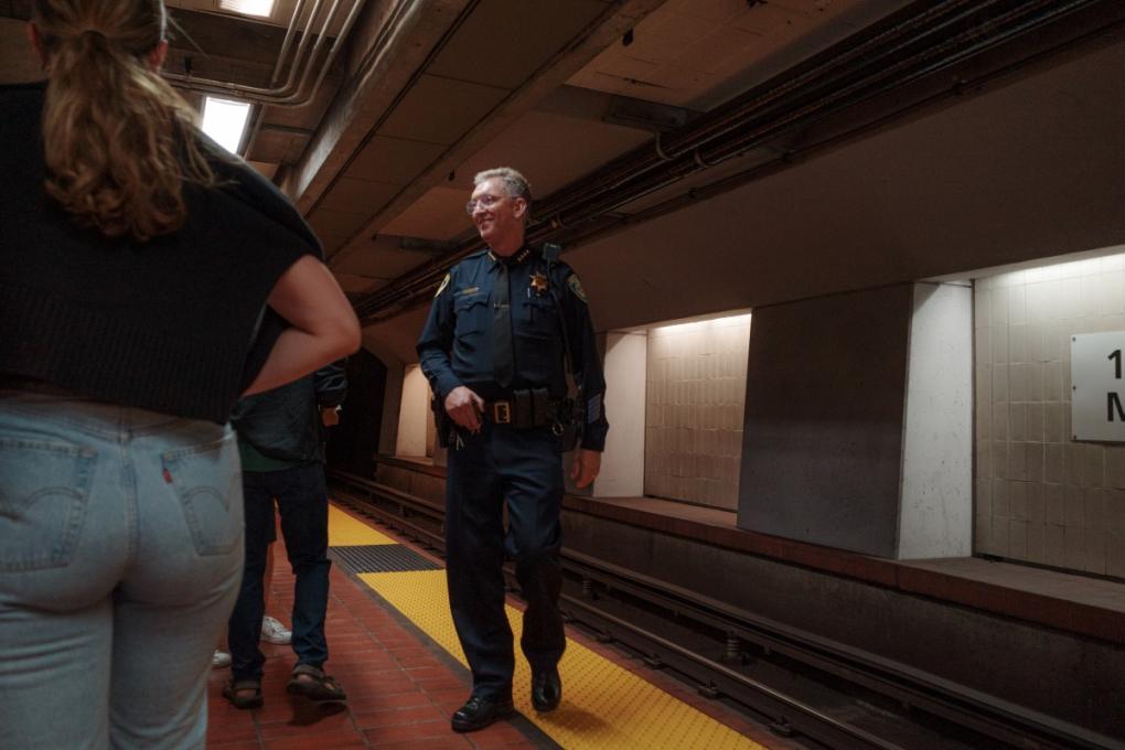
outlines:
[[[649,144],[611,162],[592,179],[550,196],[541,207],[537,207],[537,214],[549,218],[533,224],[528,232],[528,240],[543,240],[561,227],[590,222],[614,207],[637,200],[705,169],[704,165],[713,166],[738,156],[764,141],[808,126],[878,93],[917,81],[1061,16],[1101,1],[989,0],[980,3],[965,0],[943,3],[938,8],[927,3],[918,15],[900,20],[892,28],[861,43],[858,48],[863,51],[862,54],[848,47],[827,62],[813,65],[796,79],[783,81],[764,93],[753,91],[744,94],[730,105],[685,126],[681,134],[674,136],[677,146],[663,146],[667,155],[673,150],[684,155],[663,161]],[[982,9],[996,7],[1001,7],[999,15],[980,18]],[[950,9],[964,12],[938,12]],[[903,34],[919,31],[922,27],[929,44],[922,44],[917,38],[899,42]],[[930,38],[939,33],[945,33],[940,40]],[[891,46],[876,49],[876,40],[890,40]],[[842,46],[837,45],[837,48]],[[911,47],[909,56],[898,57]],[[858,60],[860,64],[844,71],[837,64],[840,60],[845,61],[844,64]],[[839,85],[845,73],[850,74],[852,79],[847,85]],[[800,87],[798,81],[807,85]],[[820,91],[825,88],[831,89],[831,93],[821,94]],[[691,135],[699,137],[691,138]],[[704,147],[705,143],[710,143],[710,147]],[[636,171],[626,175],[626,164],[631,164]],[[646,174],[648,179],[638,179]],[[477,238],[466,241],[454,252],[435,259],[405,274],[398,282],[361,299],[356,305],[357,314],[362,320],[371,322],[390,317],[410,307],[440,280],[452,263],[479,246]]]

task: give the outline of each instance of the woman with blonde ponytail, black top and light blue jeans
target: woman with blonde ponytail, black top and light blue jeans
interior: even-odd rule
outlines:
[[[160,0],[36,0],[0,88],[0,726],[201,748],[238,590],[234,401],[359,345],[316,238],[158,75]]]

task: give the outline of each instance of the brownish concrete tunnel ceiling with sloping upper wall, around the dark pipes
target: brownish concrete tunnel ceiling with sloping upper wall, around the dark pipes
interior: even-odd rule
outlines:
[[[166,71],[269,87],[297,1],[264,21],[219,12],[217,0],[170,2]],[[360,0],[350,27],[353,1],[340,4],[325,44],[339,42],[340,53],[316,96],[300,108],[258,108],[246,156],[294,198],[345,291],[363,300],[440,268],[471,240],[462,206],[476,171],[516,166],[537,198],[580,190],[623,154],[656,148],[658,134],[894,13],[943,3]],[[1125,242],[1104,199],[1125,195],[1125,144],[1113,126],[1125,117],[1125,93],[1106,73],[1125,63],[1125,13],[1115,2],[1086,6],[1100,26],[1073,24],[1073,15],[1055,24],[1071,39],[1065,54],[1029,52],[1018,70],[965,90],[963,102],[893,123],[868,112],[862,135],[762,174],[756,165],[798,153],[800,139],[748,152],[615,208],[612,225],[573,233],[566,259],[592,292],[600,327]],[[3,80],[39,74],[20,22],[29,8],[0,0]],[[1098,33],[1086,38],[1087,27]],[[1060,192],[1060,177],[1074,184]],[[1041,205],[1048,192],[1055,200]],[[1028,200],[1015,205],[1020,195]],[[369,347],[413,360],[422,314],[369,318]]]

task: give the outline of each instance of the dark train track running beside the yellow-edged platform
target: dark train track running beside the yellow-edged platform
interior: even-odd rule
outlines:
[[[443,507],[330,470],[334,497],[443,552]],[[810,747],[1090,748],[1125,743],[1009,705],[597,558],[564,550],[565,616],[652,669]],[[518,593],[514,571],[510,588]]]

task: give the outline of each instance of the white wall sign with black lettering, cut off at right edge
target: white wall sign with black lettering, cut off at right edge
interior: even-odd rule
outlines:
[[[1074,440],[1125,443],[1125,331],[1070,338]]]

